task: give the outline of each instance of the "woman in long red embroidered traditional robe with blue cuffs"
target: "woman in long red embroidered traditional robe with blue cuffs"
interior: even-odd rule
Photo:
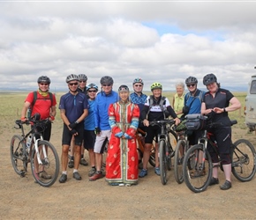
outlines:
[[[136,130],[139,106],[129,100],[127,85],[120,85],[118,94],[120,100],[109,106],[111,147],[106,159],[106,180],[111,186],[131,186],[138,184]]]

